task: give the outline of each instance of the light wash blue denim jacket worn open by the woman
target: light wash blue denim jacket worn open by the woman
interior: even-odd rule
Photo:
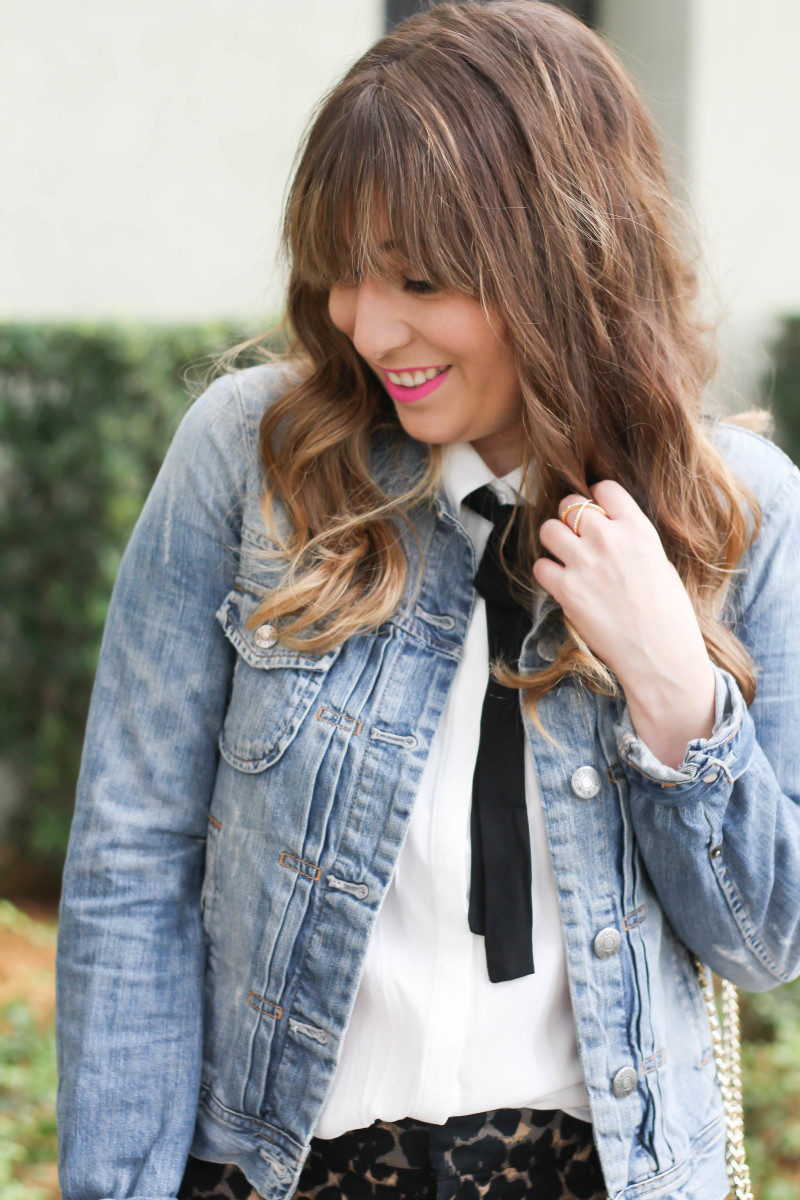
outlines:
[[[282,570],[258,553],[257,445],[285,384],[253,367],[190,406],[114,586],[59,930],[65,1200],[174,1198],[190,1152],[295,1190],[462,652],[476,564],[444,494],[417,510],[416,595],[398,523],[409,582],[379,629],[321,655],[245,629]],[[715,666],[712,734],[679,769],[571,680],[540,709],[564,749],[525,722],[614,1200],[728,1190],[690,949],[753,991],[800,973],[800,472],[712,436],[764,509],[723,613],[754,703]],[[423,452],[375,444],[373,469],[408,480]],[[542,596],[523,667],[561,631]]]

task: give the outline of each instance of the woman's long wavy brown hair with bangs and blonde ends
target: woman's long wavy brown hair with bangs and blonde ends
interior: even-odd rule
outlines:
[[[507,330],[525,431],[517,598],[531,606],[541,592],[537,530],[559,500],[616,479],[656,527],[710,658],[751,703],[757,667],[721,614],[762,514],[712,444],[703,412],[716,352],[714,328],[697,311],[696,239],[632,79],[597,34],[537,0],[465,0],[417,13],[367,50],[312,114],[281,240],[287,349],[261,355],[293,368],[260,424],[269,553],[287,570],[248,625],[269,620],[281,642],[312,653],[375,629],[404,594],[398,521],[414,529],[417,505],[432,504],[440,486],[438,445],[427,446],[425,469],[403,481],[405,491],[389,493],[373,478],[371,450],[409,436],[327,311],[333,282],[390,274],[377,202],[416,277],[479,299]],[[764,432],[771,414],[729,420]],[[564,676],[620,692],[572,624],[565,628],[543,670],[493,664],[548,738],[536,706]]]

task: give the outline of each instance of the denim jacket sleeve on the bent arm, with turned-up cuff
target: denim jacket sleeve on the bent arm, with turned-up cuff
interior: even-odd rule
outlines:
[[[776,451],[777,452],[777,451]],[[781,456],[782,461],[787,461]],[[679,936],[739,986],[800,974],[800,470],[790,466],[740,564],[733,629],[750,650],[750,708],[714,664],[710,737],[678,768],[614,725],[637,844]]]

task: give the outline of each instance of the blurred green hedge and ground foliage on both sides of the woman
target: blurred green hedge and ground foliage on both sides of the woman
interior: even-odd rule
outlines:
[[[58,1198],[55,902],[112,587],[213,356],[255,332],[0,325],[0,886],[16,901],[0,900],[0,1200]],[[763,391],[800,462],[800,317],[782,323]],[[799,1001],[800,980],[741,997],[759,1200],[800,1195]]]

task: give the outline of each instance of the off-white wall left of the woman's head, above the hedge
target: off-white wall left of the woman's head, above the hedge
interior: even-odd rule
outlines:
[[[283,191],[378,0],[0,0],[0,319],[272,316]]]

